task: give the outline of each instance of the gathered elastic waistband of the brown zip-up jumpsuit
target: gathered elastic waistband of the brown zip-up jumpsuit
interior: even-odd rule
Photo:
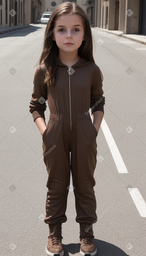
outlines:
[[[71,119],[72,120],[74,120],[74,119],[88,119],[88,118],[90,118],[89,112],[75,112],[75,113],[71,113]],[[69,113],[50,112],[49,120],[70,120],[70,114]]]

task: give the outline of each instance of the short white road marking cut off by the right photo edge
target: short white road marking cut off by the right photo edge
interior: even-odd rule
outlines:
[[[133,202],[136,205],[137,210],[140,213],[140,216],[146,218],[146,203],[141,196],[138,188],[128,188],[128,190],[133,199]]]

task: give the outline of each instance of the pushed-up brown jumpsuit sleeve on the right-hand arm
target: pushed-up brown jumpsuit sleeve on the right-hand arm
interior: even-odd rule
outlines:
[[[91,85],[91,114],[95,111],[102,111],[104,114],[105,97],[102,90],[102,76],[100,68],[95,64],[94,75]]]

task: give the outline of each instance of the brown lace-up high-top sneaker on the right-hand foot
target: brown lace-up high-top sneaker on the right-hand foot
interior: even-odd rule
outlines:
[[[90,227],[90,229],[88,229]],[[94,242],[94,235],[91,224],[80,223],[80,254],[94,256],[97,254],[97,247]]]

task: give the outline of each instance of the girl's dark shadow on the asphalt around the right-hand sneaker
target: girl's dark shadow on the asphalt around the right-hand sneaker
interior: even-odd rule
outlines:
[[[119,247],[112,243],[107,243],[102,240],[94,239],[97,246],[96,256],[129,256]],[[63,244],[64,256],[71,254],[78,254],[80,250],[80,243]]]

